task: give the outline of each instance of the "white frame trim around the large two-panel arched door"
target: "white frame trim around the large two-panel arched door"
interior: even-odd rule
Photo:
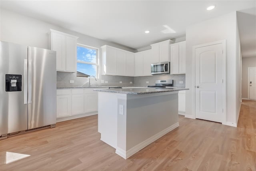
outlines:
[[[196,58],[196,48],[202,48],[205,46],[222,44],[222,124],[226,124],[226,40],[219,40],[216,42],[209,42],[205,44],[200,44],[192,46],[192,94],[193,94],[193,111],[192,118],[196,119],[196,67],[195,67],[195,58]]]

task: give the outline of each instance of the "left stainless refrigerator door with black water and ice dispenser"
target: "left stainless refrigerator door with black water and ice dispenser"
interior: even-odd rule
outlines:
[[[0,135],[27,129],[27,56],[27,46],[0,41]]]

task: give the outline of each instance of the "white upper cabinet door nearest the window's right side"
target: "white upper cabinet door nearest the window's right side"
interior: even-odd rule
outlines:
[[[114,48],[106,48],[106,74],[117,75],[117,50]]]

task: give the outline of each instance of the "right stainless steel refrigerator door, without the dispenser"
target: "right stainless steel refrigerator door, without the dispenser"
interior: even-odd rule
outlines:
[[[56,52],[28,47],[28,129],[56,123]]]

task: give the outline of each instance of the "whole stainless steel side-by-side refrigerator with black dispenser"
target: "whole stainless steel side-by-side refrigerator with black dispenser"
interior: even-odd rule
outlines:
[[[56,124],[56,52],[0,41],[0,139]]]

